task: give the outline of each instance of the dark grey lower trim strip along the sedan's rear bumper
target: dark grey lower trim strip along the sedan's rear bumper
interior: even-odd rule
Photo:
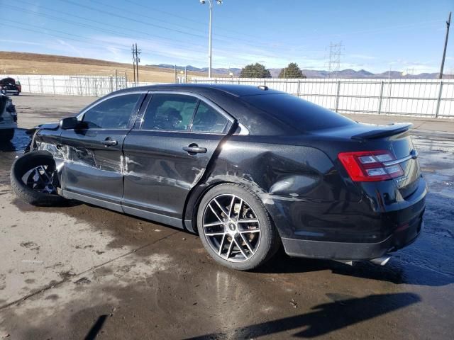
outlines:
[[[423,227],[422,219],[376,243],[326,242],[306,239],[282,238],[284,249],[290,256],[311,259],[369,260],[376,259],[413,243]]]

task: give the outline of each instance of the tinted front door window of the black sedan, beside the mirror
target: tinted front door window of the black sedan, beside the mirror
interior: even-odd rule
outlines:
[[[126,129],[140,94],[126,94],[106,99],[84,113],[87,128]]]

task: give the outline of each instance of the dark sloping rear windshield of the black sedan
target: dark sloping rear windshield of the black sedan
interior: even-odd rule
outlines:
[[[336,112],[290,94],[244,96],[243,101],[273,115],[282,123],[301,131],[314,131],[353,125],[355,122]]]

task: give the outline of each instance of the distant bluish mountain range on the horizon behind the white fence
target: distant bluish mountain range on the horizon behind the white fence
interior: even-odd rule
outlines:
[[[147,65],[152,67],[161,67],[165,69],[173,69],[174,65],[171,64],[158,64],[158,65]],[[178,70],[184,70],[184,66],[177,66]],[[187,70],[192,72],[202,72],[207,73],[208,67],[194,67],[191,65],[187,65]],[[316,70],[316,69],[303,69],[302,70],[306,77],[308,78],[334,78],[336,77],[334,72],[328,72],[324,70]],[[241,69],[233,68],[233,69],[225,69],[225,68],[218,68],[213,69],[213,73],[217,77],[228,76],[230,72],[233,72],[233,77],[238,77],[240,75]],[[279,77],[279,73],[281,69],[270,69],[271,77],[277,78]],[[337,78],[355,78],[355,79],[438,79],[438,73],[421,73],[421,74],[405,74],[402,75],[402,72],[398,71],[387,71],[382,73],[372,73],[366,71],[365,69],[360,69],[359,71],[355,71],[354,69],[343,69],[338,72]]]

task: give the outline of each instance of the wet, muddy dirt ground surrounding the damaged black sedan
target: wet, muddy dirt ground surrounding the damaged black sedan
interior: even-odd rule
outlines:
[[[14,97],[21,128],[92,99]],[[430,188],[414,244],[386,266],[281,253],[248,273],[172,227],[19,202],[9,168],[28,136],[16,130],[0,146],[0,339],[454,339],[454,129],[427,122],[413,130]]]

